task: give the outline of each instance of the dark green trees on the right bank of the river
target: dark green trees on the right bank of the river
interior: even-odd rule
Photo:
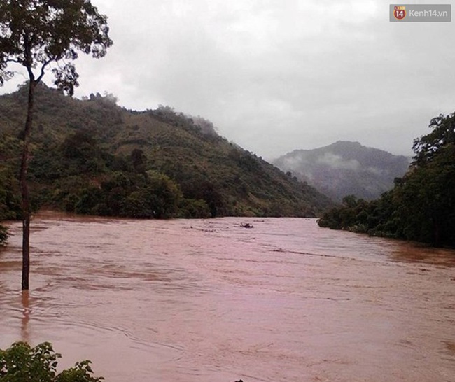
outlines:
[[[455,247],[455,113],[430,121],[414,140],[409,171],[379,199],[348,196],[318,220],[321,227]]]

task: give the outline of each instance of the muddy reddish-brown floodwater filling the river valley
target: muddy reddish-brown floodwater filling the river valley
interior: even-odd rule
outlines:
[[[28,294],[20,224],[0,250],[0,348],[107,382],[455,381],[454,250],[290,218],[32,227]]]

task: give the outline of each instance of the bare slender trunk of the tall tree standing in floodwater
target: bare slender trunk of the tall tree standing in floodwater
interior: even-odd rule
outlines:
[[[22,162],[20,164],[20,192],[22,194],[22,290],[29,289],[30,273],[30,196],[27,185],[27,170],[29,167],[29,143],[31,124],[33,122],[34,96],[36,83],[34,79],[29,81],[29,99],[27,106],[27,120],[24,128],[24,144],[22,147]]]

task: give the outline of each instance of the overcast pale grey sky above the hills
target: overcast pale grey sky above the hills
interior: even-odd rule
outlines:
[[[455,111],[455,21],[392,23],[389,1],[92,3],[114,45],[78,59],[76,97],[201,115],[268,160],[337,140],[409,155],[430,118]]]

